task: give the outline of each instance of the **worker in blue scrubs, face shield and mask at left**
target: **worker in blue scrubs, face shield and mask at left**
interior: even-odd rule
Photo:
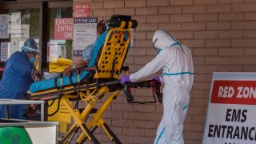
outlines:
[[[0,98],[25,99],[27,90],[34,82],[31,72],[38,55],[38,45],[34,39],[28,38],[22,51],[16,51],[7,59],[2,80],[0,82]],[[10,118],[25,119],[22,115],[25,105],[11,105]],[[0,105],[0,118],[6,117],[6,106]]]

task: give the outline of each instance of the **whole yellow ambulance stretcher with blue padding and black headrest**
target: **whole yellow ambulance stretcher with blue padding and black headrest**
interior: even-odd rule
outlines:
[[[60,75],[59,78],[34,82],[30,86],[29,99],[62,102],[71,114],[74,124],[60,143],[70,142],[78,130],[81,130],[82,134],[76,139],[77,143],[85,142],[86,139],[99,143],[93,134],[98,127],[102,127],[111,141],[121,143],[104,122],[102,114],[118,96],[119,90],[123,89],[118,76],[123,70],[122,64],[129,50],[130,28],[136,28],[138,23],[130,16],[114,15],[109,24],[111,29],[106,31],[106,37],[98,38],[99,41],[104,40],[103,45],[95,46],[98,50],[94,50],[88,67],[74,71],[76,74],[71,74],[70,77]],[[109,93],[106,101],[97,110],[94,109],[95,104],[101,101],[106,93]],[[82,109],[78,109],[80,101],[86,103]],[[70,102],[76,102],[76,105],[73,107]],[[89,114],[91,118],[87,119]]]

